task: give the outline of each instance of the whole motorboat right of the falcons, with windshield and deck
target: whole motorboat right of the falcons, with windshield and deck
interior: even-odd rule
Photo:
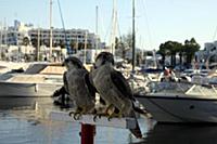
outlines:
[[[135,94],[157,122],[217,122],[217,89],[191,82],[151,82]]]

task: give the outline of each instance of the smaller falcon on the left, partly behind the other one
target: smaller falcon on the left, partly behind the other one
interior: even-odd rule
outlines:
[[[93,113],[95,90],[90,83],[89,71],[74,56],[67,57],[63,64],[67,69],[65,73],[66,91],[76,106],[74,119],[78,119],[82,114]]]

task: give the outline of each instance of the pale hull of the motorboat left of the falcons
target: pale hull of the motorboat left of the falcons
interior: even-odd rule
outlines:
[[[37,101],[49,102],[62,84],[0,82],[0,108],[34,106]]]

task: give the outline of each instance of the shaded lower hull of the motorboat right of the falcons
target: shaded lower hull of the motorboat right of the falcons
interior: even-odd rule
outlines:
[[[217,122],[217,99],[136,95],[157,122]]]

